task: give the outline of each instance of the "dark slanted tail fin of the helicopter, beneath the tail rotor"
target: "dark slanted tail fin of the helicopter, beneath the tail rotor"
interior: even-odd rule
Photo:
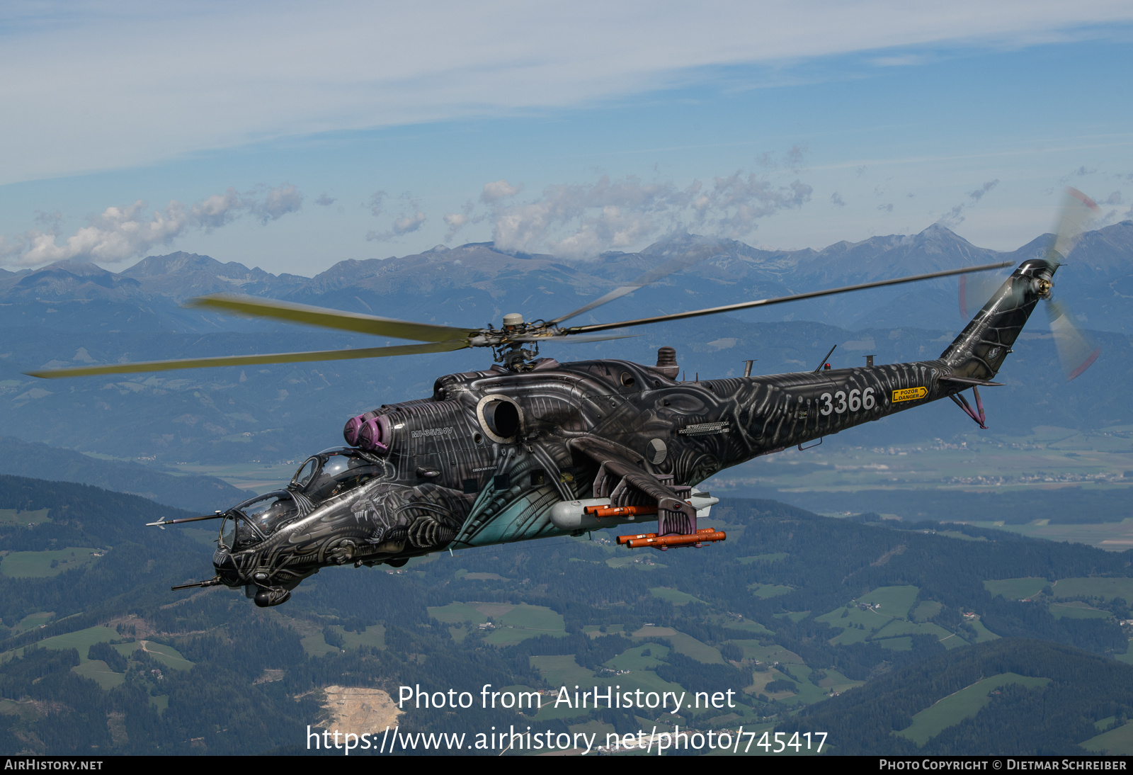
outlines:
[[[1029,258],[1019,265],[955,341],[940,354],[955,376],[990,380],[1040,299],[1050,297],[1056,261]]]

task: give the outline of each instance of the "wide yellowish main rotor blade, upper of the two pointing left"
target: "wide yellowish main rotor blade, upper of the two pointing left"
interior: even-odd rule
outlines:
[[[185,303],[185,306],[222,309],[249,317],[273,317],[291,323],[321,325],[324,329],[338,329],[340,331],[357,331],[377,337],[414,339],[419,342],[446,342],[455,339],[465,339],[478,331],[478,329],[453,329],[448,325],[433,325],[432,323],[395,321],[391,317],[361,315],[359,313],[342,312],[341,309],[308,307],[304,304],[256,299],[248,296],[228,296],[225,293],[189,299]]]

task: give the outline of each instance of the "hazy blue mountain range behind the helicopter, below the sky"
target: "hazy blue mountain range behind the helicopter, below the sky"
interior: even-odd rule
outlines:
[[[44,381],[25,371],[92,363],[157,360],[401,343],[361,334],[224,316],[180,304],[202,293],[240,292],[386,317],[441,324],[499,323],[509,312],[553,317],[664,264],[690,248],[715,253],[572,322],[606,322],[766,298],[867,279],[999,261],[1045,249],[1038,237],[1012,253],[979,248],[939,225],[913,236],[838,242],[823,250],[761,250],[738,241],[678,236],[640,253],[593,262],[505,253],[491,244],[386,259],[343,261],[313,278],[275,275],[208,256],[150,256],[118,273],[92,264],[0,272],[0,427],[26,442],[120,459],[208,463],[301,460],[341,443],[346,418],[432,393],[441,374],[485,368],[489,354],[463,350],[411,358],[329,361]],[[1119,354],[1131,346],[1133,221],[1088,232],[1058,274],[1056,295],[1092,329],[1102,357],[1067,386],[1040,316],[1000,374],[1010,388],[988,398],[996,427],[1037,424],[1104,427],[1133,423],[1114,384],[1133,375]],[[673,346],[688,378],[813,368],[832,344],[836,366],[936,357],[966,318],[952,279],[825,300],[693,318],[633,330],[632,339],[548,343],[561,360],[625,358],[653,363]],[[946,437],[952,407],[855,429],[866,443]],[[1040,417],[1041,415],[1041,417]],[[912,416],[910,416],[912,417]],[[910,434],[913,434],[910,436]],[[858,443],[862,443],[859,441]],[[15,471],[10,471],[15,472]],[[156,492],[118,485],[129,492]]]

